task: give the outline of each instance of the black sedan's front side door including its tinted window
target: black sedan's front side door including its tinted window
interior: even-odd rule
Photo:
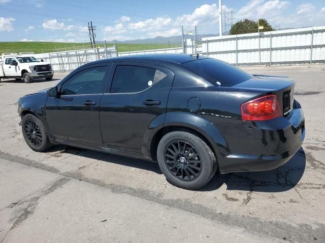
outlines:
[[[110,66],[80,70],[59,87],[59,97],[48,97],[46,118],[56,139],[103,147],[99,105]]]

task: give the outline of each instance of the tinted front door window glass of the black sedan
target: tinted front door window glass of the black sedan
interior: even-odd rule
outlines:
[[[61,95],[102,94],[106,66],[92,67],[78,72],[61,87]]]

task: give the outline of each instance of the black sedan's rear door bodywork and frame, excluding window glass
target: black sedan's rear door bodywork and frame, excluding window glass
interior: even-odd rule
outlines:
[[[117,62],[113,64],[110,79],[117,65],[134,65],[154,68],[167,74],[160,82],[137,93],[105,93],[100,105],[100,123],[107,148],[150,155],[152,131],[164,122],[167,101],[174,73],[163,66],[142,62]],[[160,104],[146,105],[145,101]]]

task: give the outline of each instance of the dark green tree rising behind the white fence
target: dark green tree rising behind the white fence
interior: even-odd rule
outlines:
[[[259,26],[263,26],[263,29],[260,29],[259,32],[272,31],[275,30],[266,19],[259,19]],[[230,34],[247,34],[258,32],[257,21],[244,19],[238,21],[232,26],[229,33]]]

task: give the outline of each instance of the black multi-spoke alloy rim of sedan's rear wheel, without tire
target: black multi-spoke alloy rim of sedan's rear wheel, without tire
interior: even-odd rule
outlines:
[[[201,156],[185,141],[174,141],[167,146],[165,164],[172,175],[184,181],[197,178],[202,170]]]

